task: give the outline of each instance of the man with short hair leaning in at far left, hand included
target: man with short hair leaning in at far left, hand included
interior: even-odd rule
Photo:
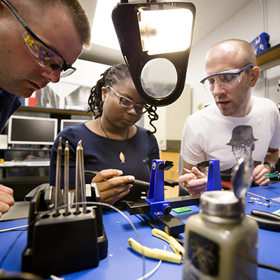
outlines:
[[[19,97],[76,70],[72,64],[90,37],[78,0],[0,0],[0,132]],[[0,217],[14,203],[13,190],[0,186]]]

